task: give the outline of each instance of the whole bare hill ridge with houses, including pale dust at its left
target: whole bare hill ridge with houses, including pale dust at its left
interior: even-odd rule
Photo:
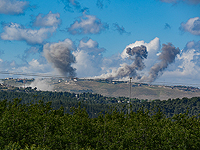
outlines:
[[[98,93],[108,97],[129,97],[129,81],[112,81],[112,80],[93,80],[78,79],[63,80],[57,78],[34,80],[25,79],[26,87],[37,87],[38,90],[66,91],[72,93],[91,92]],[[19,79],[2,79],[5,85],[24,86],[24,80]],[[145,83],[131,83],[131,97],[139,99],[160,99],[169,98],[198,97],[200,89],[188,86],[163,86],[151,85]]]

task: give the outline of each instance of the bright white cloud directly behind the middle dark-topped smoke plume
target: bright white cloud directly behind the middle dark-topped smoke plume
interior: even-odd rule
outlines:
[[[157,61],[157,53],[160,50],[160,41],[159,38],[155,38],[149,43],[145,43],[144,41],[136,41],[135,43],[129,44],[126,46],[126,48],[123,50],[121,55],[111,57],[109,59],[104,59],[103,63],[103,69],[106,71],[100,76],[96,76],[96,78],[126,78],[123,77],[123,75],[127,75],[130,73],[135,74],[134,67],[133,67],[133,61],[132,59],[129,59],[129,55],[126,53],[127,48],[134,48],[137,46],[144,45],[147,48],[148,56],[147,59],[144,59],[143,62],[145,64],[145,68],[142,71],[139,71],[139,75],[147,74],[150,67],[152,67],[153,64]],[[119,77],[119,72],[122,72],[122,75]],[[136,71],[136,70],[135,70]]]

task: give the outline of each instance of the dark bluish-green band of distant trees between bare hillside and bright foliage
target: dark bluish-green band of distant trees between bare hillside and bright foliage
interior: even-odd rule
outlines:
[[[71,113],[72,107],[77,107],[80,103],[81,108],[86,108],[89,117],[98,117],[100,112],[109,112],[112,108],[118,111],[127,113],[130,109],[137,112],[140,108],[144,110],[160,109],[166,117],[172,117],[175,114],[186,113],[188,116],[198,115],[200,113],[200,97],[182,98],[182,99],[168,99],[168,100],[147,100],[131,99],[131,105],[127,103],[127,97],[106,97],[100,94],[82,93],[75,94],[69,92],[48,92],[36,91],[31,88],[26,88],[23,92],[16,91],[0,91],[0,100],[7,99],[12,101],[15,98],[21,99],[21,103],[27,104],[30,102],[38,103],[39,100],[43,102],[52,102],[51,107],[59,109],[64,107],[66,113]]]

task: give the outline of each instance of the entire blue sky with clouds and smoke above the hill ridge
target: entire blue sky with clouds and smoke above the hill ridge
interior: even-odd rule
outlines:
[[[200,0],[0,0],[0,23],[0,78],[200,87]]]

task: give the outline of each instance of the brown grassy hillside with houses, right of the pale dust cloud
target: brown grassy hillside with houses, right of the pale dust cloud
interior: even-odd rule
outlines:
[[[68,91],[74,93],[92,92],[111,97],[129,97],[130,83],[127,82],[111,82],[111,81],[95,81],[81,80],[60,82],[54,85],[57,91]],[[149,84],[132,83],[131,97],[139,99],[160,99],[183,98],[200,96],[198,88],[184,86],[158,86]]]

